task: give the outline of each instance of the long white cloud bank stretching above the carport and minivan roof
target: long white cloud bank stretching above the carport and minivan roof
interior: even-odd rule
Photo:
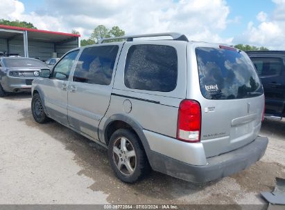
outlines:
[[[31,13],[24,12],[24,4],[20,1],[1,0],[0,8],[0,18],[28,21],[44,30],[71,32],[76,29],[83,38],[103,24],[119,26],[127,34],[177,31],[197,41],[232,41],[231,37],[223,39],[219,35],[230,22],[227,19],[230,9],[225,0],[145,0],[135,3],[132,0],[50,0],[42,10]]]

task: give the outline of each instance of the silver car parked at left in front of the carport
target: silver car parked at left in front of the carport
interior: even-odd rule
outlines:
[[[27,57],[0,57],[0,97],[6,93],[31,92],[33,79],[39,76],[42,61]]]

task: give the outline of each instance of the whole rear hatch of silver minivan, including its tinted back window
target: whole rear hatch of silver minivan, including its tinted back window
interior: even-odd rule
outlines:
[[[235,48],[196,47],[201,134],[207,157],[249,144],[258,135],[264,90],[250,58]]]

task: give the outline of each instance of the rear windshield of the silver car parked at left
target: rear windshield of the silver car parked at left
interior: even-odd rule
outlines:
[[[6,67],[39,67],[46,68],[46,65],[39,60],[34,59],[4,59],[4,64]]]

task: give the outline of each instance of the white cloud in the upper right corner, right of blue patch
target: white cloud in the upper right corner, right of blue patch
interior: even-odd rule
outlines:
[[[234,38],[235,44],[252,44],[266,46],[270,50],[284,50],[285,48],[285,0],[273,0],[275,10],[268,17],[265,12],[259,12],[257,26],[248,23],[248,28],[241,35]]]

